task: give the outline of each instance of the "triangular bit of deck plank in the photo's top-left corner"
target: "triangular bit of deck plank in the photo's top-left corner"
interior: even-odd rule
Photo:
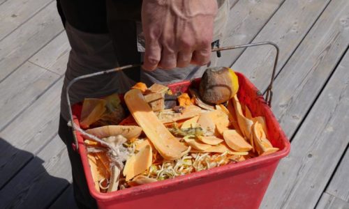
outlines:
[[[11,0],[1,4],[0,40],[50,2],[52,0]]]

